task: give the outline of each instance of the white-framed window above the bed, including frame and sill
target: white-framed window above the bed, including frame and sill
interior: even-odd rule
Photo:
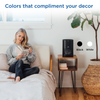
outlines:
[[[0,29],[51,28],[51,11],[45,9],[14,9],[0,11]]]

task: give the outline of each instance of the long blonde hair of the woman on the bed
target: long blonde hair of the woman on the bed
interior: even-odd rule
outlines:
[[[27,48],[29,48],[30,46],[27,44],[27,42],[28,42],[28,36],[27,36],[27,32],[26,32],[26,30],[25,29],[23,29],[23,28],[20,28],[16,33],[18,34],[19,32],[23,32],[24,33],[24,39],[23,39],[23,41],[22,41],[22,47],[24,48],[24,49],[27,49]],[[16,43],[16,40],[17,40],[17,37],[16,37],[16,35],[15,35],[15,39],[14,39],[14,43]]]

